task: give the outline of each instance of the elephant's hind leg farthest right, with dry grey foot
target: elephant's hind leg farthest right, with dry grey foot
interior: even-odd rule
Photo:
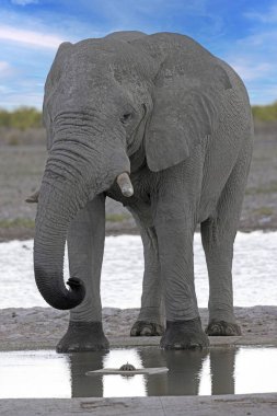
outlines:
[[[250,142],[241,153],[218,203],[216,215],[201,223],[209,274],[208,335],[241,335],[233,313],[232,259],[251,161]]]

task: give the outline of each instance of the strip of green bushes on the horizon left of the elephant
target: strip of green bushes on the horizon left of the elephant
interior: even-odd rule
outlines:
[[[20,130],[42,127],[42,113],[33,107],[19,107],[14,111],[0,108],[0,127],[13,127]]]

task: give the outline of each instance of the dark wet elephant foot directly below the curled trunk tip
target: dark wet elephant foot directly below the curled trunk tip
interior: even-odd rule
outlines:
[[[56,347],[57,353],[107,350],[108,340],[101,322],[69,322],[68,331]]]

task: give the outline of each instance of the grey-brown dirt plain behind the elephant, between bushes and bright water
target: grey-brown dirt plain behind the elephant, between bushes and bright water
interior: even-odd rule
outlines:
[[[44,130],[0,129],[0,241],[34,234],[36,205],[25,197],[39,186],[47,157]],[[129,212],[107,199],[106,232],[137,232]],[[277,229],[277,123],[255,126],[254,154],[240,229]]]

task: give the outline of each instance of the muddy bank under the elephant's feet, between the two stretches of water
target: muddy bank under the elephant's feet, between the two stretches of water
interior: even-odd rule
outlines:
[[[160,337],[130,337],[139,309],[103,309],[103,327],[111,348],[159,347]],[[208,310],[199,308],[203,327],[208,323]],[[277,305],[234,308],[242,336],[209,337],[211,347],[275,346],[277,347]],[[8,308],[0,313],[0,351],[55,349],[67,331],[68,311],[53,308]]]

